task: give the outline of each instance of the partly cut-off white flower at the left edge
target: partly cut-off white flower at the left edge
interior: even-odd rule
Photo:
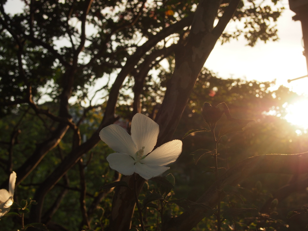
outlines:
[[[7,212],[9,212],[10,207],[13,204],[15,182],[16,173],[12,172],[10,175],[9,191],[6,189],[0,189],[0,217],[3,217]]]

